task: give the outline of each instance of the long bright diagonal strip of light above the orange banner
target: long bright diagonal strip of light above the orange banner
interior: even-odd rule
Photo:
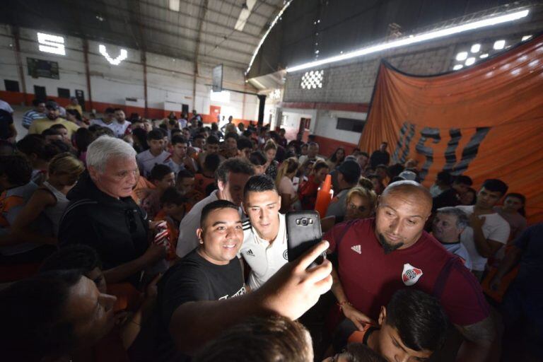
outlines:
[[[300,71],[302,69],[313,68],[314,66],[321,66],[323,64],[340,62],[342,60],[351,59],[354,57],[361,57],[362,55],[382,52],[383,50],[387,50],[387,49],[395,49],[398,47],[404,47],[406,45],[414,45],[419,42],[435,40],[440,37],[446,37],[448,35],[465,33],[470,30],[486,28],[486,27],[489,27],[492,25],[498,25],[501,23],[508,23],[510,21],[515,21],[521,18],[525,18],[529,12],[530,12],[529,10],[515,11],[514,13],[506,13],[504,15],[493,16],[491,18],[484,18],[479,21],[471,21],[469,23],[452,26],[450,28],[435,30],[428,33],[421,33],[419,35],[411,35],[409,37],[393,40],[392,42],[383,42],[378,45],[370,45],[369,47],[363,47],[353,52],[337,55],[335,57],[329,57],[329,58],[320,59],[314,62],[308,62],[308,63],[300,64],[297,66],[291,66],[291,67],[288,67],[286,71],[287,72]]]

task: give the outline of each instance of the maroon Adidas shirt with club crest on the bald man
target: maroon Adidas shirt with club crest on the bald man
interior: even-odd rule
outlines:
[[[388,255],[375,236],[373,218],[339,223],[324,239],[337,252],[339,279],[349,302],[373,320],[381,305],[406,286],[438,297],[455,325],[472,325],[489,316],[477,280],[426,231],[414,245]]]

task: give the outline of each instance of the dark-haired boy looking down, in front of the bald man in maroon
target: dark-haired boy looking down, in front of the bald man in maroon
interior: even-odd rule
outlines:
[[[368,323],[358,330],[351,320],[339,325],[334,350],[357,342],[369,346],[387,361],[421,361],[445,343],[447,316],[438,300],[414,288],[396,291],[387,306],[381,307],[377,325]]]

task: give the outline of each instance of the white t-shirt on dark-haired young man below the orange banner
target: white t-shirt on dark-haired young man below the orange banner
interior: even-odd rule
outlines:
[[[464,211],[467,216],[473,214],[474,205],[470,206],[456,206],[458,209]],[[498,213],[480,215],[479,218],[484,217],[483,235],[485,238],[495,240],[498,243],[505,245],[509,238],[510,227],[507,221],[499,216]],[[469,254],[469,259],[472,260],[472,268],[476,271],[484,271],[486,265],[486,257],[482,257],[477,251],[475,242],[473,240],[473,229],[468,226],[464,229],[460,235],[460,243],[462,243]]]

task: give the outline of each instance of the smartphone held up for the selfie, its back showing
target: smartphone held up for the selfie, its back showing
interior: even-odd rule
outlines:
[[[293,262],[322,240],[320,216],[317,211],[293,211],[286,214],[286,242],[288,261]],[[326,257],[315,259],[310,267],[321,264]]]

